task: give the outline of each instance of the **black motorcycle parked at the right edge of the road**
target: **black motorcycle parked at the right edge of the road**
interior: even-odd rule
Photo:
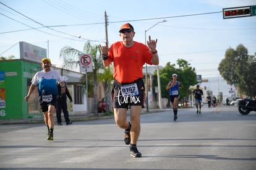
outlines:
[[[249,114],[250,111],[256,111],[256,100],[243,99],[238,101],[238,111],[241,114]]]

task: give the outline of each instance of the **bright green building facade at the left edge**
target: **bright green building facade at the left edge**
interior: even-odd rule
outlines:
[[[26,119],[41,117],[37,89],[30,99],[25,96],[41,64],[25,59],[0,61],[0,119]]]

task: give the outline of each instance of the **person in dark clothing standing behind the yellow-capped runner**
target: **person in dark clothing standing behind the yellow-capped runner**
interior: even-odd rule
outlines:
[[[63,111],[64,118],[66,121],[66,125],[72,124],[69,119],[69,111],[67,111],[67,97],[69,98],[70,102],[73,102],[72,97],[70,96],[69,90],[67,88],[66,82],[67,82],[67,77],[63,76],[62,79],[65,82],[65,90],[66,93],[61,93],[61,85],[58,84],[58,99],[57,99],[57,104],[56,104],[56,117],[58,121],[58,125],[62,125],[61,123],[61,110]]]

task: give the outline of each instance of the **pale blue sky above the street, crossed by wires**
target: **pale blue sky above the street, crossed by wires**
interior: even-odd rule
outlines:
[[[160,66],[185,59],[202,79],[220,77],[218,64],[228,48],[242,44],[250,55],[256,53],[256,17],[223,19],[222,13],[226,7],[256,5],[255,0],[0,2],[0,56],[4,57],[19,59],[19,41],[25,41],[48,49],[52,63],[61,66],[59,53],[65,46],[82,51],[88,40],[92,45],[105,44],[105,11],[109,45],[121,40],[119,28],[129,22],[134,41],[145,43],[145,33],[147,40],[149,35],[158,39]]]

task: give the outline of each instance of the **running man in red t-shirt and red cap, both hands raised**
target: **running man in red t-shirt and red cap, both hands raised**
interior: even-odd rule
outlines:
[[[124,142],[130,144],[130,156],[141,157],[137,150],[140,134],[140,113],[145,101],[145,85],[142,68],[145,63],[159,64],[156,40],[147,41],[147,45],[134,41],[134,27],[124,23],[119,30],[122,41],[117,41],[108,48],[100,45],[103,65],[114,64],[114,83],[112,90],[114,118],[116,124],[125,129]],[[130,109],[130,122],[127,121],[127,109]]]

